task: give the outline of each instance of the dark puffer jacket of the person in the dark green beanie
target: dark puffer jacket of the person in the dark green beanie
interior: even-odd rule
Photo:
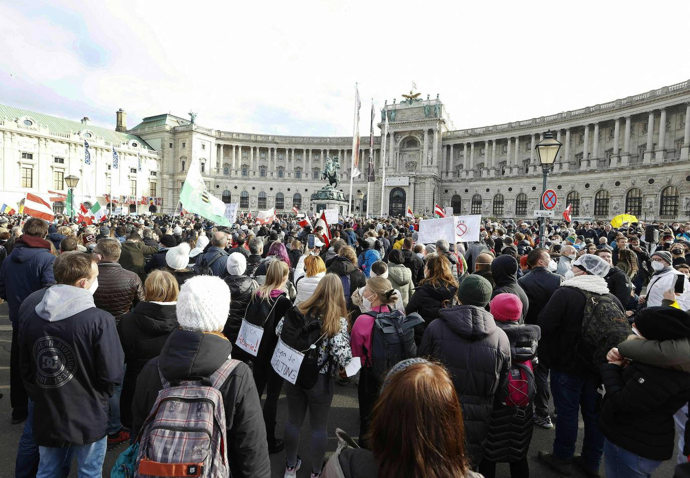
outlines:
[[[506,332],[482,308],[446,308],[426,328],[417,354],[439,359],[448,368],[462,404],[466,450],[471,463],[479,464],[494,395],[506,386],[511,368],[511,344]]]

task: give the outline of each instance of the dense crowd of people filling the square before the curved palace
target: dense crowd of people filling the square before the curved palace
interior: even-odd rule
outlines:
[[[522,478],[535,426],[555,428],[533,455],[558,477],[690,474],[690,223],[552,221],[542,240],[484,221],[479,241],[420,243],[395,217],[25,219],[0,215],[17,477],[75,458],[101,477],[117,449],[118,477],[270,477],[284,453],[286,478]],[[324,461],[353,380],[359,434]]]

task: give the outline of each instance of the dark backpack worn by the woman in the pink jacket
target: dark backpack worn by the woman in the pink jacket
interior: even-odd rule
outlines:
[[[404,359],[417,356],[415,326],[424,323],[422,316],[412,312],[405,316],[400,310],[388,307],[388,312],[366,312],[374,317],[371,330],[371,369],[378,377]],[[366,355],[366,350],[364,350]]]

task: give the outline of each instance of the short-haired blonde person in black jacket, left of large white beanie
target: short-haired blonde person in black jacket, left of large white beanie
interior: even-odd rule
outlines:
[[[109,240],[119,246],[119,241]],[[103,286],[99,283],[99,288]],[[144,283],[144,301],[121,317],[117,326],[126,364],[119,397],[120,421],[125,428],[132,428],[132,398],[139,373],[146,362],[158,357],[168,335],[178,326],[175,315],[178,294],[177,280],[170,272],[151,272]]]

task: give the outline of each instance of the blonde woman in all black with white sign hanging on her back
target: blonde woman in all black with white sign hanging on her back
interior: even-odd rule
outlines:
[[[253,361],[259,399],[266,388],[264,422],[270,453],[277,453],[284,448],[283,440],[275,437],[275,417],[283,379],[271,367],[270,356],[277,343],[277,323],[293,306],[285,292],[289,275],[290,268],[284,261],[271,261],[266,270],[266,282],[253,292],[235,341],[235,350],[241,349]]]

